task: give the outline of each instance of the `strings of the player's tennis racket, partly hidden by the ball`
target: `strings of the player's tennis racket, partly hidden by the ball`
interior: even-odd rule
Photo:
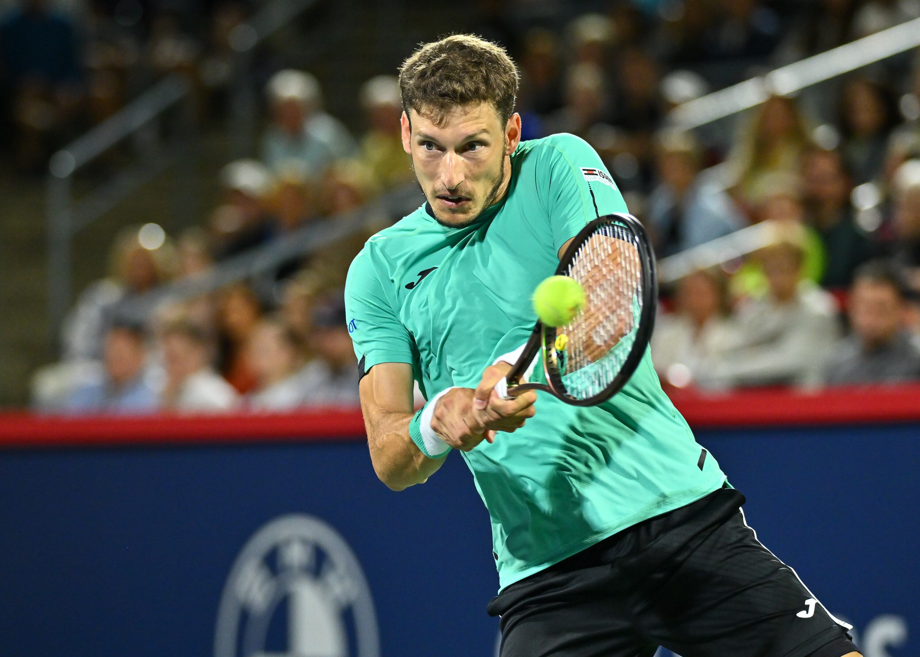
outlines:
[[[620,225],[601,225],[578,249],[567,275],[581,283],[586,304],[558,329],[565,348],[556,363],[573,398],[600,395],[623,368],[636,340],[642,310],[638,236]]]

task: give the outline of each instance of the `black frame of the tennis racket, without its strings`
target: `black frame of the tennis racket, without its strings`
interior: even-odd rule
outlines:
[[[611,213],[604,214],[597,219],[592,220],[588,225],[582,228],[576,235],[569,248],[566,248],[562,258],[559,259],[556,275],[568,275],[569,266],[575,259],[575,255],[594,234],[595,229],[601,225],[615,225],[619,223],[626,225],[627,229],[637,237],[636,248],[638,248],[639,262],[641,265],[642,275],[642,310],[639,314],[638,328],[636,329],[636,339],[633,341],[632,348],[627,354],[623,366],[614,380],[597,395],[591,398],[575,398],[566,391],[565,384],[562,382],[562,375],[559,374],[558,368],[552,364],[555,363],[556,336],[557,328],[550,327],[537,320],[534,330],[524,346],[521,357],[512,365],[511,371],[506,375],[505,381],[508,386],[508,395],[516,397],[527,390],[543,390],[548,392],[567,404],[573,406],[596,406],[607,399],[613,397],[623,386],[626,386],[629,377],[635,372],[638,364],[642,361],[642,356],[649,345],[651,332],[655,326],[655,309],[658,305],[658,272],[655,264],[655,254],[652,252],[649,236],[645,227],[632,214]],[[534,360],[538,353],[543,355],[543,371],[546,375],[546,384],[539,383],[520,383],[527,367]]]

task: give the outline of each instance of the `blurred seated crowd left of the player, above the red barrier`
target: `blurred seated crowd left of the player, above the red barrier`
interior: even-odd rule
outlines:
[[[413,179],[399,137],[395,76],[362,86],[366,128],[355,139],[322,108],[316,77],[284,69],[265,86],[269,121],[260,159],[228,163],[221,202],[176,239],[158,225],[129,226],[109,276],[65,318],[63,360],[33,379],[46,411],[253,411],[358,403],[358,367],[342,288],[351,259],[382,225],[313,256],[159,307],[148,322],[122,312],[158,285],[272,245],[320,218],[361,208]]]

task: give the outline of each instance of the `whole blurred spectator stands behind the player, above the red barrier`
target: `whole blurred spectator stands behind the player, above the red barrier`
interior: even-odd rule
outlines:
[[[0,185],[14,199],[0,211],[10,227],[0,276],[12,283],[0,296],[12,310],[0,349],[15,353],[4,359],[3,399],[24,403],[29,372],[61,358],[32,387],[37,407],[63,408],[75,386],[110,369],[106,336],[127,321],[125,308],[145,319],[144,370],[164,408],[182,408],[192,375],[223,376],[234,390],[227,408],[285,398],[266,394],[272,386],[294,390],[296,406],[312,403],[296,390],[317,377],[347,389],[348,352],[338,350],[347,329],[316,344],[338,317],[329,299],[363,239],[421,201],[399,142],[393,74],[420,40],[455,30],[509,49],[521,66],[524,137],[566,131],[589,141],[661,258],[690,261],[687,249],[764,221],[782,227],[779,244],[663,287],[653,347],[663,382],[840,382],[827,374],[842,367],[832,354],[908,353],[920,327],[920,57],[899,45],[915,37],[896,27],[918,16],[914,0],[493,1],[462,25],[446,8],[408,0],[13,3],[0,21],[10,91]],[[892,28],[884,42],[797,64]],[[892,56],[874,61],[885,48]],[[121,196],[89,204],[93,216],[70,226],[72,256],[57,268],[80,294],[60,326],[54,313],[70,294],[56,294],[49,324],[34,176],[87,129],[123,123],[120,109],[170,75],[187,85],[181,103],[103,140],[79,171],[51,160],[69,185],[58,211],[86,209],[79,203],[102,198],[135,160],[168,161],[130,185],[122,175]],[[183,132],[190,125],[194,139]],[[100,263],[116,234],[106,275]],[[903,282],[887,315],[884,285],[856,274],[870,259]],[[866,302],[872,285],[878,303]],[[160,303],[167,297],[178,301]],[[866,337],[857,317],[867,314],[888,317],[884,339]],[[854,331],[838,348],[848,323]],[[204,363],[179,372],[176,354],[196,349],[191,360],[203,354]]]

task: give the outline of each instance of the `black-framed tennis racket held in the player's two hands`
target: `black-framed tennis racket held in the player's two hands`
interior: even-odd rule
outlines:
[[[537,321],[496,390],[506,399],[544,390],[574,406],[600,404],[627,384],[654,327],[658,279],[649,236],[631,214],[598,217],[575,236],[556,273],[581,284],[584,308],[564,327]],[[522,383],[537,355],[547,383]]]

